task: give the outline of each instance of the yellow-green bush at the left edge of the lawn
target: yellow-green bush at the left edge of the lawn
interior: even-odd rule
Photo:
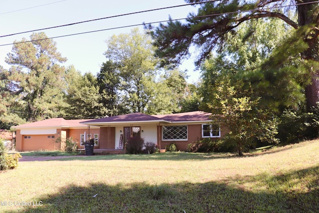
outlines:
[[[19,158],[22,156],[19,153],[8,155],[3,140],[0,139],[0,170],[14,169],[18,166]]]

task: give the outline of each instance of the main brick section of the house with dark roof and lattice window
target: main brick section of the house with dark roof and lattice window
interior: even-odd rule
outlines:
[[[186,150],[187,144],[202,138],[221,138],[225,132],[211,124],[211,113],[201,111],[167,115],[131,113],[81,122],[100,127],[100,149],[124,149],[125,142],[133,136],[153,142],[160,149],[174,143],[177,150]],[[91,134],[91,131],[89,131]]]

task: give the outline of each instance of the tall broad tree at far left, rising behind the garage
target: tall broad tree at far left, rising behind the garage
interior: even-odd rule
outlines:
[[[65,69],[59,63],[66,61],[57,52],[56,43],[43,33],[33,33],[31,41],[25,38],[14,42],[5,62],[11,64],[7,85],[10,104],[26,121],[35,121],[63,115],[65,107]]]

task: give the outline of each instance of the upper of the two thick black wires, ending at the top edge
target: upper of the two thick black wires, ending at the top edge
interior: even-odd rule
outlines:
[[[169,9],[169,8],[180,7],[180,6],[188,6],[188,5],[194,5],[194,4],[200,4],[200,3],[207,3],[207,2],[212,2],[212,1],[219,1],[219,0],[207,0],[207,1],[202,1],[202,2],[180,4],[180,5],[175,5],[175,6],[166,6],[166,7],[156,8],[156,9],[148,9],[148,10],[143,10],[143,11],[138,11],[138,12],[130,12],[130,13],[125,13],[125,14],[120,14],[120,15],[112,15],[112,16],[103,17],[103,18],[96,18],[96,19],[68,23],[68,24],[63,24],[63,25],[58,25],[58,26],[51,26],[51,27],[46,27],[46,28],[41,28],[41,29],[33,29],[33,30],[29,30],[29,31],[24,31],[24,32],[17,32],[17,33],[12,33],[12,34],[7,34],[7,35],[1,35],[0,37],[7,37],[7,36],[17,35],[17,34],[22,34],[22,33],[27,33],[27,32],[34,32],[34,31],[40,31],[40,30],[45,30],[45,29],[70,26],[70,25],[74,25],[74,24],[85,23],[85,22],[96,21],[96,20],[103,20],[103,19],[107,19],[107,18],[114,18],[114,17],[125,16],[125,15],[132,15],[132,14],[138,14],[138,13],[143,13],[143,12],[156,11],[156,10],[161,10],[161,9]]]

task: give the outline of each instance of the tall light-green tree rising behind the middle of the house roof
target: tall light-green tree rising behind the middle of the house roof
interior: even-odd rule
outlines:
[[[108,49],[104,55],[117,64],[121,101],[126,103],[127,112],[146,112],[152,99],[158,62],[151,37],[135,28],[129,34],[113,35],[106,42]]]

